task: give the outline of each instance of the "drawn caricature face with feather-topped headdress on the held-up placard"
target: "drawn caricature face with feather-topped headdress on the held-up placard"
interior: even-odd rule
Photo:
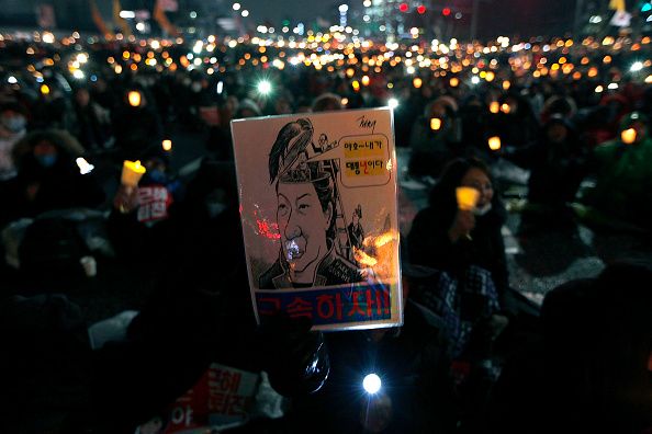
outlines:
[[[362,281],[358,267],[335,249],[333,174],[310,162],[314,128],[306,118],[288,123],[269,156],[276,185],[281,250],[259,277],[260,289],[340,285]]]

